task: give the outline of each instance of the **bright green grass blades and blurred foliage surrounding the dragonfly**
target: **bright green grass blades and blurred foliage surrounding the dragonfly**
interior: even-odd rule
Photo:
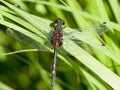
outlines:
[[[102,22],[107,22],[109,29],[100,36],[93,34],[95,38],[81,37],[88,42],[82,48],[74,42],[63,46],[65,50],[57,57],[52,88],[53,51],[49,44],[43,43],[42,37],[46,37],[52,29],[50,23],[57,18],[65,20],[70,30]],[[8,35],[8,28],[16,32],[10,31],[12,34]],[[120,90],[119,31],[119,0],[0,0],[0,90]],[[25,37],[19,41],[16,33]],[[90,39],[105,46],[93,45]],[[34,42],[48,47],[49,51],[31,47],[29,44]]]

